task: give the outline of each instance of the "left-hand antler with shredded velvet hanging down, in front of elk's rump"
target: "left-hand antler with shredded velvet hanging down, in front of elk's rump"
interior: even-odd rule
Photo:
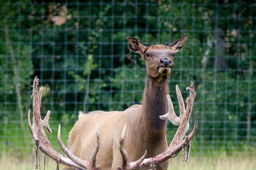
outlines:
[[[60,138],[60,125],[59,125],[59,130],[58,130],[58,141],[60,144],[60,147],[62,150],[65,152],[68,158],[62,156],[62,154],[58,153],[54,149],[52,149],[51,144],[49,140],[47,139],[46,133],[44,132],[44,128],[46,128],[47,132],[51,133],[51,128],[49,127],[49,117],[51,112],[48,111],[47,115],[44,120],[41,120],[41,115],[40,115],[40,106],[41,106],[41,98],[42,98],[42,91],[43,88],[41,87],[40,90],[38,91],[38,82],[39,79],[38,77],[35,77],[34,79],[34,84],[33,84],[33,126],[31,125],[31,120],[30,120],[30,110],[28,112],[28,127],[31,132],[31,135],[33,137],[33,140],[36,144],[34,147],[35,155],[36,155],[36,164],[35,168],[38,169],[38,149],[40,149],[44,154],[47,156],[51,157],[51,159],[55,160],[58,164],[64,164],[68,165],[70,167],[75,168],[76,170],[98,170],[101,169],[99,165],[96,165],[96,154],[99,150],[99,145],[100,145],[100,137],[99,137],[99,131],[98,127],[96,124],[96,130],[97,130],[97,141],[98,143],[96,144],[96,147],[91,155],[91,160],[90,162],[86,160],[82,160],[75,155],[73,155],[68,149],[65,147],[63,144],[61,138]]]

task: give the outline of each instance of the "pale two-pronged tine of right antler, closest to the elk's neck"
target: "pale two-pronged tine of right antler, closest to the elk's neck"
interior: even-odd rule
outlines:
[[[163,119],[163,120],[168,119],[168,120],[171,121],[171,123],[178,126],[181,122],[181,119],[174,112],[173,103],[171,101],[170,95],[167,95],[166,98],[167,98],[167,101],[168,101],[168,112],[164,115],[160,115],[159,117],[160,117],[160,119]]]

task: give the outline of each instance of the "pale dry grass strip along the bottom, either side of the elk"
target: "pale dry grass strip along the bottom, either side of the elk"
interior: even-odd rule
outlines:
[[[231,155],[226,154],[218,155],[191,155],[189,162],[185,163],[182,160],[182,154],[178,157],[170,159],[169,170],[255,170],[256,153],[252,155]],[[43,155],[41,159],[41,169],[44,169]],[[56,170],[56,162],[46,157],[46,170]],[[17,159],[13,156],[8,156],[2,153],[0,158],[0,167],[5,170],[33,170],[34,169],[34,157],[24,157],[23,159]],[[60,165],[60,169],[62,169]]]

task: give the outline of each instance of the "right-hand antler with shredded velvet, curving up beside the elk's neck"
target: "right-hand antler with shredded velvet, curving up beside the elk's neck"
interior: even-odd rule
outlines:
[[[127,163],[128,156],[126,154],[126,151],[123,148],[123,143],[124,143],[123,142],[124,135],[123,135],[123,137],[121,137],[121,139],[120,139],[120,151],[121,151],[121,155],[123,157],[123,159],[122,159],[123,161],[122,161],[122,165],[119,166],[119,169],[131,170],[134,168],[145,168],[145,167],[151,167],[152,165],[158,165],[162,162],[165,162],[169,158],[176,156],[185,147],[187,148],[187,150],[184,152],[183,160],[188,162],[190,141],[193,138],[193,136],[196,134],[196,131],[197,131],[197,112],[196,112],[194,128],[193,128],[192,132],[188,136],[186,136],[186,133],[189,130],[189,118],[191,115],[194,98],[196,96],[196,93],[194,91],[193,82],[191,82],[191,86],[187,87],[186,90],[190,90],[190,95],[186,99],[187,107],[185,109],[181,91],[179,90],[178,85],[176,85],[176,92],[177,92],[179,108],[180,108],[180,116],[177,117],[177,115],[175,114],[174,109],[173,109],[173,103],[172,103],[169,95],[167,95],[168,113],[160,116],[160,119],[164,119],[164,120],[168,119],[174,125],[179,126],[169,148],[166,149],[165,152],[163,152],[153,158],[147,158],[147,159],[145,159],[146,154],[147,154],[147,151],[146,151],[145,154],[136,162]],[[126,126],[124,127],[123,133],[124,133],[125,129],[126,129]]]

